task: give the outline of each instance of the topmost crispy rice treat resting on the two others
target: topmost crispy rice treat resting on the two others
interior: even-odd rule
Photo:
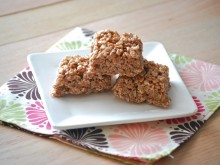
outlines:
[[[120,36],[115,31],[100,31],[91,45],[90,71],[133,77],[144,68],[142,47],[140,38],[132,33]]]

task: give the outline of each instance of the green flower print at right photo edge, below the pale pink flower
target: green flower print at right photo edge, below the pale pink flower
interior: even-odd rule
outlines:
[[[213,92],[210,96],[208,96],[208,99],[205,100],[205,104],[209,111],[216,111],[220,107],[220,90]]]

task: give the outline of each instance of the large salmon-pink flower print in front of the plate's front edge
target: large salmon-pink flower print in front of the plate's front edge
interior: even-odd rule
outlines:
[[[112,148],[134,157],[155,154],[169,143],[165,130],[146,123],[120,125],[113,132],[109,135]]]

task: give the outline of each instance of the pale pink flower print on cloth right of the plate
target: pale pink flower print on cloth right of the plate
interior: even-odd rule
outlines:
[[[201,91],[212,91],[220,86],[220,67],[202,61],[187,64],[180,75],[192,89],[199,87]]]

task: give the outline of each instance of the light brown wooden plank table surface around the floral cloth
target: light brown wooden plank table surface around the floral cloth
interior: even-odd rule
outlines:
[[[218,0],[0,0],[0,84],[27,66],[26,57],[46,51],[74,27],[132,32],[162,42],[169,52],[220,65]],[[220,112],[187,143],[157,165],[220,164]],[[54,140],[0,126],[0,164],[121,162]]]

